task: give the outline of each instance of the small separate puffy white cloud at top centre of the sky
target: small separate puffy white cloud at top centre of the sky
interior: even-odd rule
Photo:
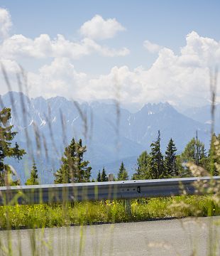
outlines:
[[[96,15],[91,20],[86,21],[79,29],[79,32],[82,36],[99,40],[113,38],[117,32],[125,30],[126,28],[116,21],[116,18],[104,20],[101,16]]]

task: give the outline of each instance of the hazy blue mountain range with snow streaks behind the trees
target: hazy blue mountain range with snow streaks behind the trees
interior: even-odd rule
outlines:
[[[22,92],[1,95],[0,103],[1,107],[11,108],[11,124],[18,132],[15,141],[28,152],[19,164],[9,160],[22,182],[28,176],[33,158],[38,164],[41,182],[53,182],[53,172],[59,168],[62,153],[72,137],[82,138],[87,145],[85,159],[92,166],[93,177],[103,166],[107,173],[116,174],[121,161],[131,175],[138,155],[143,150],[149,151],[158,130],[162,151],[172,137],[177,151],[181,152],[196,131],[199,139],[209,146],[208,107],[182,114],[167,102],[148,103],[131,113],[119,102],[78,103],[65,97],[30,98]],[[219,106],[216,110],[220,113]]]

